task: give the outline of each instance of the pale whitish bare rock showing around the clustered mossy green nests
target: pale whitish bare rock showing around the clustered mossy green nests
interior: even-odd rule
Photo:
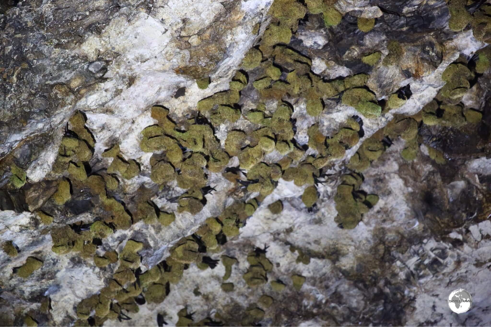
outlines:
[[[27,121],[24,129],[10,134],[5,144],[0,145],[0,151],[15,149],[31,137],[48,133],[52,126],[64,126],[71,115],[80,110],[95,139],[94,161],[109,167],[113,159],[101,154],[118,144],[124,159],[135,159],[140,165],[140,175],[120,178],[128,199],[118,200],[133,201],[145,190],[156,189],[157,185],[150,179],[152,153],[140,149],[141,131],[157,122],[150,115],[151,106],[162,105],[169,109],[172,119],[182,121],[195,116],[199,100],[229,89],[246,52],[261,38],[269,24],[271,17],[267,13],[272,2],[155,0],[146,10],[123,6],[111,14],[100,30],[87,32],[80,42],[70,45],[69,52],[82,58],[84,70],[54,77],[57,83],[66,85],[66,89],[53,90],[60,101],[56,104],[55,115],[49,119]],[[404,10],[420,3],[411,1]],[[48,6],[44,2],[40,10],[48,10]],[[368,0],[339,0],[336,8],[344,14],[353,13],[353,17],[382,17],[381,9],[370,5]],[[334,46],[335,35],[332,34],[328,29],[299,30],[294,38],[295,42],[301,42],[302,50],[312,51],[309,53],[312,54],[311,70],[326,80],[342,79],[359,69],[359,63],[341,65],[339,58],[326,58],[326,49]],[[385,33],[366,33],[359,40],[359,44],[347,47],[340,57],[357,60],[370,47],[380,48],[382,60],[388,55]],[[63,43],[62,40],[56,42]],[[305,99],[293,99],[292,119],[297,119],[295,140],[299,146],[308,144],[307,130],[315,123],[330,137],[354,115],[363,121],[364,135],[359,142],[325,170],[328,174],[323,177],[325,181],[317,185],[319,200],[316,207],[309,210],[301,200],[307,185],[299,187],[293,181],[279,179],[273,193],[246,220],[240,235],[230,238],[219,251],[207,254],[217,260],[222,255],[240,259],[226,281],[234,283],[233,293],[221,289],[225,274],[223,265],[202,270],[192,264],[182,279],[172,284],[172,293],[164,302],[145,303],[139,306],[138,313],[129,314],[132,320],[108,320],[104,326],[154,326],[157,313],[165,314],[168,326],[175,326],[179,320],[177,312],[185,307],[188,312],[196,311],[195,322],[218,317],[215,314],[221,313],[228,322],[239,325],[247,305],[255,305],[262,295],[274,297],[272,308],[262,320],[267,326],[350,325],[354,319],[359,319],[357,323],[360,324],[373,325],[416,326],[428,322],[457,325],[464,320],[449,314],[446,297],[460,287],[469,291],[475,301],[470,311],[472,315],[465,324],[491,324],[486,302],[491,286],[488,269],[491,257],[486,250],[491,246],[491,223],[489,220],[477,222],[473,220],[477,211],[468,213],[468,208],[464,210],[464,207],[478,208],[480,204],[486,204],[489,190],[481,182],[485,183],[491,175],[490,159],[469,160],[455,170],[455,178],[447,180],[445,168],[430,159],[427,145],[421,145],[417,158],[408,163],[400,155],[407,143],[402,139],[393,140],[380,159],[363,172],[361,189],[367,194],[377,194],[380,201],[363,215],[355,229],[342,229],[335,222],[338,212],[334,202],[340,178],[349,172],[346,164],[362,143],[396,115],[417,114],[445,85],[441,79],[445,68],[461,55],[472,56],[484,46],[486,44],[473,37],[472,30],[456,33],[443,44],[445,51],[441,63],[420,78],[403,76],[400,67],[385,66],[381,60],[371,67],[367,82],[378,100],[386,100],[391,93],[407,85],[412,95],[401,107],[375,119],[368,119],[355,108],[337,103],[335,99],[325,99],[324,111],[311,117],[307,114]],[[209,87],[199,89],[195,78],[183,73],[187,67],[208,74]],[[252,78],[249,77],[249,83]],[[483,88],[480,92],[484,93]],[[477,86],[466,94],[465,105],[480,104],[476,89]],[[244,101],[243,114],[255,108],[257,90],[247,97],[241,99]],[[272,113],[277,104],[267,103],[266,106]],[[224,146],[228,132],[255,128],[251,125],[242,117],[233,124],[221,124],[215,135]],[[42,181],[49,176],[62,136],[61,128],[50,134],[49,141],[27,169],[29,182]],[[308,149],[305,154],[317,152]],[[275,150],[264,161],[273,164],[281,157]],[[237,157],[233,157],[227,166],[238,164]],[[168,227],[138,222],[128,230],[117,230],[102,241],[97,255],[112,249],[120,252],[128,239],[142,241],[145,247],[139,255],[142,257],[140,268],[144,272],[167,258],[170,248],[180,238],[195,233],[208,217],[218,216],[235,199],[246,196],[244,188],[222,174],[207,173],[208,184],[216,190],[205,196],[206,206],[199,213],[176,212],[175,222]],[[433,182],[435,184],[431,184]],[[179,196],[185,190],[177,187],[175,181],[168,186],[149,200],[163,211],[174,212],[178,205],[169,198]],[[257,193],[249,194],[248,199],[255,196]],[[476,203],[471,203],[472,197]],[[273,214],[268,206],[277,200],[282,201],[283,211]],[[435,203],[443,203],[446,211],[438,211]],[[445,219],[451,219],[447,217],[449,212],[458,211],[455,208],[460,207],[463,215],[458,216],[461,220],[456,225],[459,227],[454,228],[454,221]],[[488,219],[491,211],[486,212],[490,214],[485,217]],[[96,218],[95,213],[55,217],[54,223],[47,227],[39,224],[35,213],[0,211],[0,244],[11,240],[21,250],[14,258],[0,251],[0,316],[7,314],[7,309],[2,308],[2,303],[7,302],[22,308],[15,312],[16,317],[25,317],[32,310],[38,310],[40,303],[30,302],[30,299],[24,301],[17,296],[16,290],[21,290],[26,298],[42,290],[53,302],[50,322],[63,326],[77,319],[77,304],[107,286],[119,264],[105,270],[78,253],[55,254],[51,250],[50,229],[81,220],[89,223]],[[446,228],[446,224],[451,227]],[[268,283],[253,289],[243,277],[249,268],[246,257],[254,247],[265,246],[268,246],[266,256],[274,268],[268,272]],[[303,251],[304,257],[310,258],[308,264],[301,262],[299,250]],[[22,266],[29,256],[43,260],[43,268],[25,280],[12,271]],[[291,280],[296,274],[306,277],[298,292]],[[278,279],[286,284],[283,292],[275,292],[271,287],[270,282]],[[392,320],[387,320],[387,316]],[[22,324],[21,320],[19,322]]]

